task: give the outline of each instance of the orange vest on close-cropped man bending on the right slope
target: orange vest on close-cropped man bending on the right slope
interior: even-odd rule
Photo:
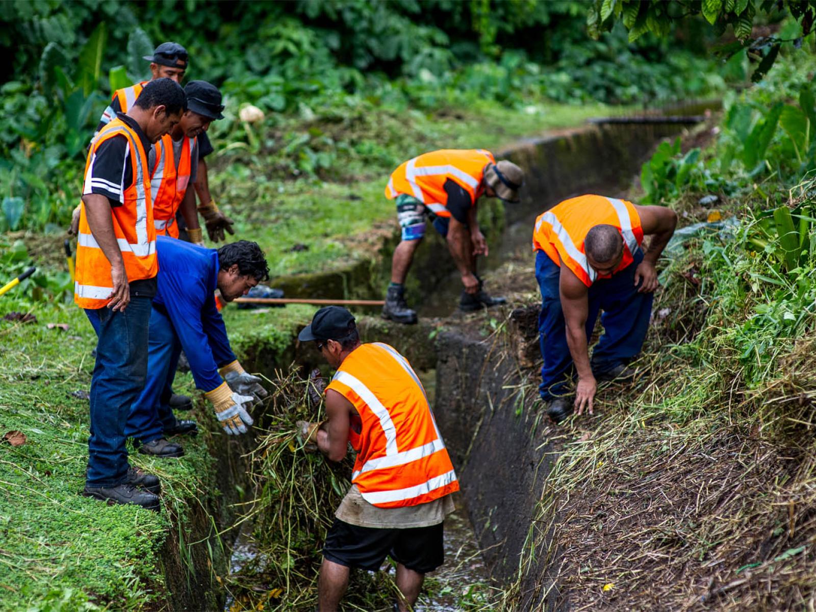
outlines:
[[[614,225],[623,237],[623,260],[614,272],[620,272],[632,264],[633,254],[643,243],[641,216],[632,202],[605,196],[579,196],[565,200],[535,220],[533,249],[544,251],[553,262],[561,260],[579,277],[584,285],[591,286],[599,275],[590,267],[584,255],[583,240],[596,225]]]

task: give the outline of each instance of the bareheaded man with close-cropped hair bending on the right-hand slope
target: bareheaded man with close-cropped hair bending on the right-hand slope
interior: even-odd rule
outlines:
[[[596,381],[634,377],[628,363],[643,347],[658,287],[655,265],[676,224],[676,213],[665,206],[598,195],[565,200],[535,221],[544,359],[539,392],[557,423],[573,409],[592,415]],[[590,361],[588,339],[601,311],[604,333]]]

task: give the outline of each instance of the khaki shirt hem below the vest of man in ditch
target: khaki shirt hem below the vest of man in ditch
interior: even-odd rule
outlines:
[[[438,525],[456,509],[452,496],[402,508],[377,508],[362,499],[357,485],[352,485],[340,502],[335,517],[349,525],[376,529],[410,529]]]

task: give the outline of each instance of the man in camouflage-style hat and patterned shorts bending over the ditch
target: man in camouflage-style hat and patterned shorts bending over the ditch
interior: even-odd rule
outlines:
[[[499,197],[517,202],[524,172],[512,162],[496,163],[485,149],[442,149],[403,162],[392,172],[385,195],[397,202],[402,240],[394,250],[391,284],[385,296],[383,317],[399,323],[415,323],[416,313],[405,299],[405,280],[419,242],[425,235],[425,219],[446,238],[448,250],[462,275],[459,299],[463,311],[504,304],[490,297],[477,276],[478,255],[487,255],[487,243],[477,222],[479,197]]]

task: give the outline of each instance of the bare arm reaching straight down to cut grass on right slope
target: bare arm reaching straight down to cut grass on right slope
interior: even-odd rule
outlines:
[[[589,299],[587,286],[561,261],[559,289],[561,310],[566,324],[566,344],[578,371],[578,388],[575,394],[575,412],[580,415],[584,407],[592,415],[592,401],[597,388],[592,366],[589,364],[589,342],[587,338],[587,317]]]

